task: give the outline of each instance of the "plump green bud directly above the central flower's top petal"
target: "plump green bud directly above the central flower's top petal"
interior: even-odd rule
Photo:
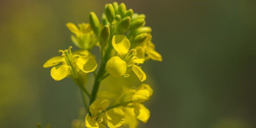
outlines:
[[[131,24],[131,18],[129,16],[123,18],[117,27],[117,32],[119,34],[126,33],[129,30],[130,24]]]

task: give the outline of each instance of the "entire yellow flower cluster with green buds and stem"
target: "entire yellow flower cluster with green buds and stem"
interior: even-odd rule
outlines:
[[[81,88],[82,99],[88,112],[85,126],[117,128],[127,125],[136,128],[138,120],[146,123],[150,118],[150,111],[143,103],[153,94],[150,85],[124,87],[118,97],[111,93],[98,93],[101,81],[109,75],[118,79],[134,73],[143,82],[146,80],[146,73],[140,66],[149,59],[162,61],[161,55],[156,52],[152,43],[152,29],[145,26],[145,15],[133,13],[132,9],[127,10],[124,3],[118,5],[113,2],[105,5],[101,23],[97,15],[90,12],[89,23],[78,24],[78,27],[73,23],[67,23],[66,26],[73,33],[72,42],[80,50],[71,52],[72,46],[59,50],[61,56],[47,60],[43,67],[53,67],[51,76],[54,80],[71,77]],[[94,46],[99,46],[101,51],[99,68],[96,57],[90,53]],[[95,74],[91,93],[85,86],[90,72]],[[89,101],[84,98],[84,93]]]

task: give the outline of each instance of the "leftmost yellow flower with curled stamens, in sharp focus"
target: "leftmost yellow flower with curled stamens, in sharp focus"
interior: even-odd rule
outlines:
[[[56,81],[62,80],[68,75],[77,78],[81,75],[81,71],[88,73],[97,68],[97,62],[93,56],[81,54],[85,52],[73,55],[71,48],[72,46],[64,51],[59,50],[59,52],[62,52],[61,56],[52,57],[43,65],[44,68],[55,66],[51,69],[51,76]],[[61,65],[56,66],[59,63]]]

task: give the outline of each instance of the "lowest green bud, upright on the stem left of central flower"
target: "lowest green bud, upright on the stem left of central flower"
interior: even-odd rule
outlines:
[[[105,25],[100,32],[100,46],[103,48],[108,44],[110,37],[109,25]]]

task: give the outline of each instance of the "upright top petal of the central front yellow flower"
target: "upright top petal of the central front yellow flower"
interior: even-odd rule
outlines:
[[[128,53],[131,44],[124,35],[114,35],[112,45],[118,53],[124,55]]]

